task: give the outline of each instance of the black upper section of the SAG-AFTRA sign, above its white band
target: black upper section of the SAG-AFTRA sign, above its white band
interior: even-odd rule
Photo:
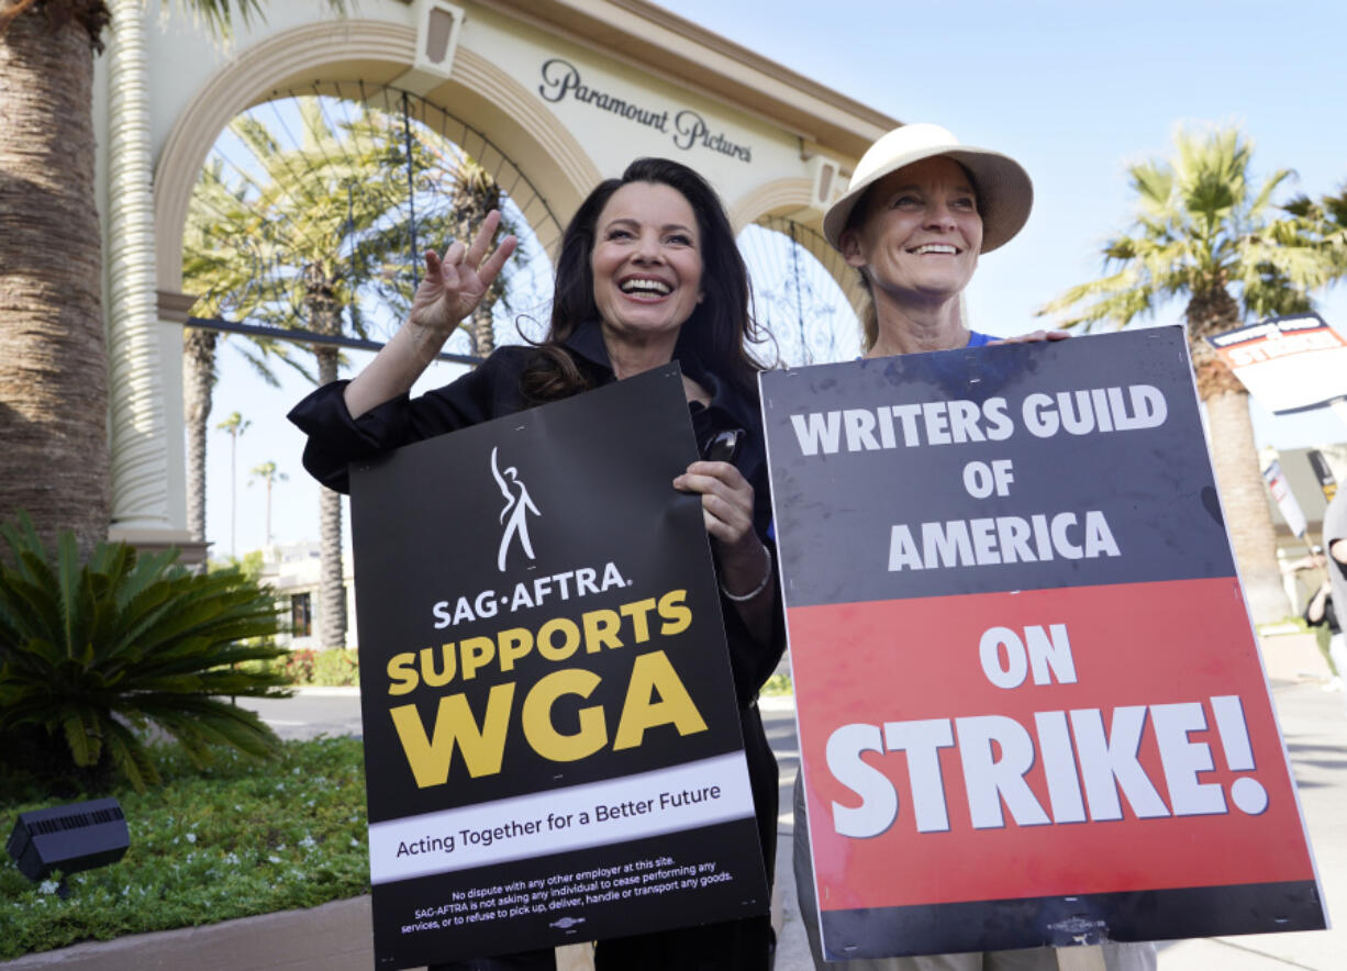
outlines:
[[[516,537],[506,549],[504,572],[497,570],[497,556],[509,516],[502,513],[505,496],[492,471],[493,448],[502,478],[509,483],[513,470],[537,509],[525,517],[536,560],[527,558]],[[671,365],[352,467],[370,823],[742,749],[700,498],[671,485],[695,459],[682,378]],[[598,586],[607,564],[625,586],[577,595],[579,571],[593,571]],[[529,607],[520,601],[511,610],[520,584],[535,599],[539,578],[567,572],[564,599],[563,580],[551,579],[551,593],[540,603]],[[672,590],[687,590],[683,606],[692,621],[682,633],[661,636],[665,621],[649,601]],[[459,598],[466,598],[462,605]],[[445,605],[440,611],[449,617],[462,609],[463,620],[436,629],[442,622],[436,603]],[[621,613],[624,606],[644,617],[645,642],[637,642],[637,621]],[[511,671],[501,669],[496,644],[501,632],[523,629],[536,638],[548,621],[570,618],[583,628],[583,615],[599,610],[617,611],[622,646],[591,644],[591,653],[582,644],[559,661],[535,646]],[[492,615],[477,615],[485,613]],[[391,694],[391,659],[403,656],[401,671],[423,677],[426,669],[445,671],[443,645],[457,655],[471,637],[492,641],[496,655],[473,677],[463,679],[459,657],[447,684],[422,681],[407,694]],[[562,644],[563,637],[559,632],[552,640]],[[684,737],[672,726],[657,726],[640,746],[612,751],[634,660],[652,650],[664,650],[709,731]],[[599,681],[586,698],[560,695],[552,711],[556,731],[579,731],[581,712],[602,707],[607,745],[590,757],[556,762],[533,751],[520,730],[520,712],[539,679],[577,668],[598,675]],[[515,685],[500,772],[470,777],[455,746],[447,781],[419,788],[391,712],[415,706],[432,739],[443,696],[466,692],[467,707],[481,725],[497,684]]]

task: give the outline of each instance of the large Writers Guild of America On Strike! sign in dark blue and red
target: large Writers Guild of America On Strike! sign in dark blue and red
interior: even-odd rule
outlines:
[[[1324,927],[1180,329],[761,385],[826,956]]]

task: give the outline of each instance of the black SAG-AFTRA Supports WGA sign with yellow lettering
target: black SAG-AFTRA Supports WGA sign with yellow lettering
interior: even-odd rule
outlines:
[[[765,913],[676,365],[352,467],[381,968]]]

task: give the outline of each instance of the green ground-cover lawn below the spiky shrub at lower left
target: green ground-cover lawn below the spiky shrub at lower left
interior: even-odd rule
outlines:
[[[279,761],[218,753],[191,766],[154,747],[162,788],[121,801],[131,848],[117,863],[30,882],[0,861],[0,960],[82,940],[213,924],[307,908],[369,890],[364,751],[358,738],[283,743]],[[13,803],[0,793],[0,836],[18,813],[79,799]]]

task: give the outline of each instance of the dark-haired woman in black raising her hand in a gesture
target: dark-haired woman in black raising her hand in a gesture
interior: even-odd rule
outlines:
[[[492,213],[471,246],[426,253],[426,279],[393,339],[354,380],[319,388],[290,417],[307,435],[304,467],[346,490],[348,463],[384,450],[568,397],[669,361],[683,370],[698,442],[744,432],[731,462],[694,462],[674,488],[699,493],[722,593],[726,640],[768,878],[776,857],[777,773],[757,692],[784,648],[780,598],[764,536],[770,521],[756,374],[761,339],[748,272],[714,190],[691,168],[638,159],[601,183],[562,236],[548,334],[501,347],[475,370],[415,400],[415,380],[481,300],[515,248]],[[599,941],[598,968],[768,968],[766,914]],[[454,968],[551,968],[537,951]]]

